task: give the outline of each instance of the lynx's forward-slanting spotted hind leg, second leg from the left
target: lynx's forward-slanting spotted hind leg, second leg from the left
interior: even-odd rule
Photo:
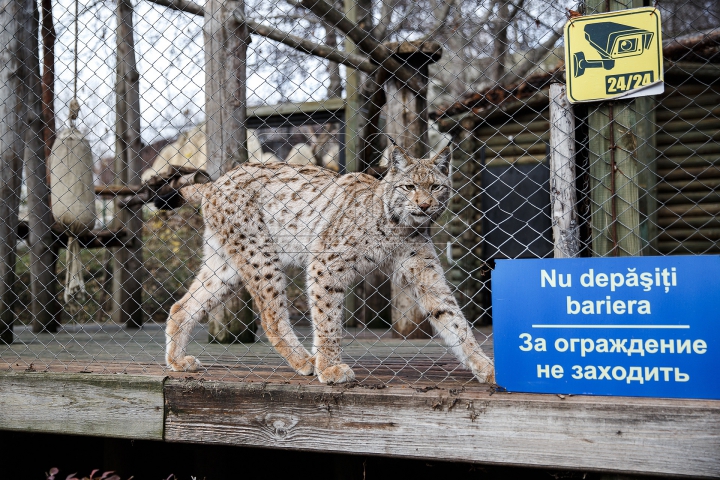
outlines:
[[[248,262],[240,268],[245,285],[260,312],[265,335],[295,372],[312,375],[315,372],[313,359],[300,343],[290,323],[285,294],[287,278],[281,269],[280,259],[276,255],[268,257],[267,252],[260,253],[262,243],[258,242],[257,246],[257,251],[248,247]]]

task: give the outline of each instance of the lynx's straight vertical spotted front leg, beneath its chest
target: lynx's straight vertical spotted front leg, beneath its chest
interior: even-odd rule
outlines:
[[[315,369],[321,383],[347,383],[355,373],[342,363],[342,315],[345,288],[340,277],[314,262],[308,268],[308,298],[313,321]]]

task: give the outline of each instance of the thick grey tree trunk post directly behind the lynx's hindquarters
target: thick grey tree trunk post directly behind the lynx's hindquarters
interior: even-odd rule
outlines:
[[[245,119],[250,36],[247,26],[233,15],[244,8],[242,0],[209,0],[205,8],[207,172],[213,180],[248,158]],[[257,326],[248,299],[241,289],[225,305],[209,312],[209,341],[255,341]]]

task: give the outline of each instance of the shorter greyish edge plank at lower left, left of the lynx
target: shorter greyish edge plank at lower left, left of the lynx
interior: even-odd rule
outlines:
[[[162,440],[161,376],[0,372],[0,429]]]

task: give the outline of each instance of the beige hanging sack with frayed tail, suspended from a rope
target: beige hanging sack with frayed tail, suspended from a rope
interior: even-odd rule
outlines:
[[[96,219],[92,150],[74,127],[58,133],[50,153],[50,200],[55,220],[65,226],[68,234],[64,299],[69,303],[85,295],[76,237],[92,230]]]

